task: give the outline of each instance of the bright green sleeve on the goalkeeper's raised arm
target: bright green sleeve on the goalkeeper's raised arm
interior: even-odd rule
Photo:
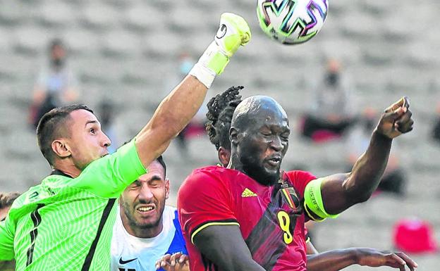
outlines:
[[[124,189],[147,173],[136,151],[135,139],[116,153],[94,160],[73,180],[73,187],[105,198],[117,198]]]

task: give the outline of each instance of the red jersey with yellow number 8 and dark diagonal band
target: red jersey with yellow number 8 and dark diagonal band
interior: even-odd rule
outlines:
[[[190,270],[219,270],[193,244],[199,230],[239,225],[252,258],[265,270],[305,271],[303,194],[313,179],[309,172],[283,172],[277,184],[267,187],[238,170],[218,166],[194,170],[177,199]]]

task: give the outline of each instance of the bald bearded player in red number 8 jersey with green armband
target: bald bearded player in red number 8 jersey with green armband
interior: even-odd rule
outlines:
[[[391,139],[410,130],[408,100],[402,99],[386,110],[352,172],[316,179],[308,172],[279,170],[290,132],[283,108],[267,96],[245,99],[231,123],[232,169],[195,170],[179,191],[191,270],[306,270],[305,220],[334,217],[369,198],[386,165]],[[321,253],[313,262],[325,258]],[[410,269],[416,266],[406,256],[391,253],[387,259],[384,264],[393,267],[404,268],[405,261]],[[307,270],[318,266],[309,264]]]

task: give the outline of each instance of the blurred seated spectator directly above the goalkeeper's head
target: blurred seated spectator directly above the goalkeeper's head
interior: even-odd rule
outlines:
[[[39,72],[30,106],[29,121],[35,127],[44,113],[78,100],[78,81],[66,65],[66,55],[61,39],[50,42],[49,62]]]

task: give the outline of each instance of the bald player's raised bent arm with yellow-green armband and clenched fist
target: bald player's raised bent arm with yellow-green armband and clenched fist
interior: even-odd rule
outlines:
[[[319,178],[307,184],[307,214],[314,220],[322,220],[367,201],[384,173],[393,138],[412,130],[414,121],[411,115],[407,97],[393,103],[384,111],[367,151],[357,159],[351,172]]]

